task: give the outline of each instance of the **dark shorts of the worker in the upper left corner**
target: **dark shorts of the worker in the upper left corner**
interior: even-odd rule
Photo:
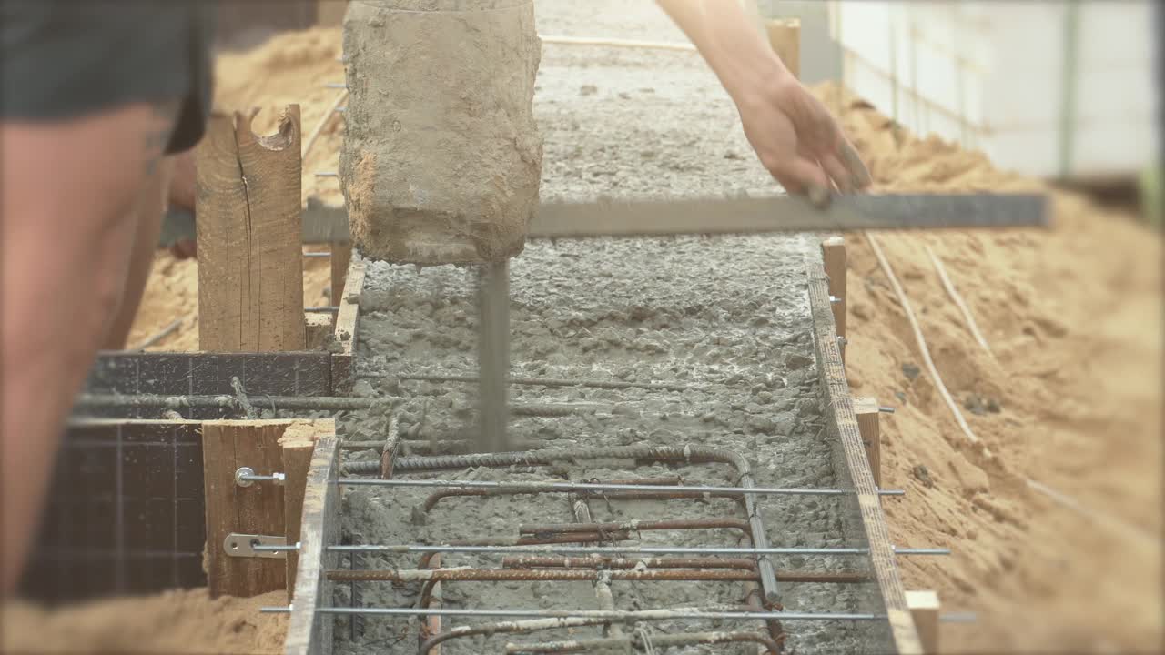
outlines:
[[[202,139],[214,0],[0,0],[0,119],[179,103],[167,153]]]

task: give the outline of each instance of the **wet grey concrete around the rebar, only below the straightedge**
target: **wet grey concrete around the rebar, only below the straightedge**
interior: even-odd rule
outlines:
[[[511,376],[666,382],[669,388],[593,388],[515,385],[511,401],[579,404],[567,416],[515,416],[517,449],[553,452],[621,446],[723,449],[749,462],[757,486],[835,488],[832,448],[811,340],[805,258],[817,239],[727,237],[531,242],[511,262]],[[476,368],[475,273],[454,267],[370,262],[361,295],[360,375],[355,394],[391,397],[389,403],[340,418],[350,441],[382,441],[395,416],[398,458],[464,451],[476,429],[476,386],[411,376],[469,376]],[[346,462],[379,462],[377,450],[346,451]],[[736,471],[720,463],[587,459],[550,467],[476,467],[432,472],[397,471],[407,479],[458,480],[678,480],[684,485],[732,486]],[[447,543],[537,536],[537,524],[578,522],[570,494],[445,495],[432,488],[351,487],[344,495],[347,543]],[[617,494],[612,494],[617,495]],[[630,529],[591,544],[748,547],[739,523],[748,516],[730,498],[592,496],[591,521],[711,521],[702,529]],[[426,499],[429,500],[426,502]],[[841,503],[835,496],[765,496],[757,501],[772,547],[840,548]],[[725,520],[725,521],[718,521]],[[735,523],[735,524],[734,524]],[[608,526],[608,528],[614,528]],[[545,535],[543,535],[545,536]],[[857,544],[860,545],[860,544]],[[862,571],[860,557],[778,555],[778,576],[789,572]],[[497,569],[497,555],[443,554],[440,566]],[[629,564],[633,565],[633,564]],[[634,565],[633,565],[634,566]],[[343,568],[421,568],[419,556],[360,554]],[[419,582],[340,582],[340,606],[414,607]],[[623,580],[609,583],[619,610],[742,606],[740,580]],[[866,589],[821,582],[778,583],[786,612],[856,612]],[[599,610],[593,580],[445,582],[445,607],[488,610]],[[443,629],[480,625],[445,619]],[[338,617],[339,653],[416,653],[416,619]],[[785,652],[853,650],[860,624],[789,622]],[[764,633],[760,621],[664,620],[624,628],[675,635],[693,631]],[[606,631],[609,633],[609,629]],[[507,643],[601,639],[602,626],[539,631],[531,635],[471,635],[442,652],[503,652]],[[650,639],[650,636],[648,638]],[[684,646],[683,653],[755,653],[755,643]]]

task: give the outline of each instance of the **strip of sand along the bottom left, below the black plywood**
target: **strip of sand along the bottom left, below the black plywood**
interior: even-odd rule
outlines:
[[[218,598],[206,590],[87,603],[47,612],[28,604],[2,606],[3,653],[175,653],[262,655],[283,652],[285,614],[260,614],[287,603],[274,591],[255,598]]]

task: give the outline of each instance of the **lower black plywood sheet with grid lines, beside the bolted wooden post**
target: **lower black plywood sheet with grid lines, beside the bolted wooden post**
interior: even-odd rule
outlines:
[[[75,423],[21,580],[44,603],[206,584],[202,427]]]

